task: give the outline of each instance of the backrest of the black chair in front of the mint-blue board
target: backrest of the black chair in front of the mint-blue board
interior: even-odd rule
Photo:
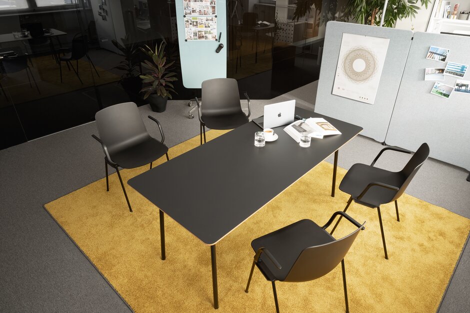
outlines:
[[[224,115],[242,112],[238,83],[233,78],[202,81],[201,114]]]

